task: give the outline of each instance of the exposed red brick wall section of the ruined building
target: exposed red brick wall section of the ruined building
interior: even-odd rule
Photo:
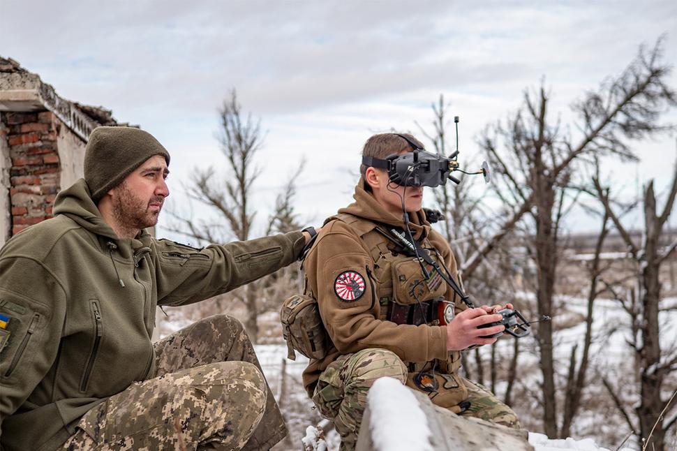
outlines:
[[[12,161],[10,201],[12,235],[52,217],[59,192],[57,134],[60,121],[49,111],[6,112],[6,142]]]

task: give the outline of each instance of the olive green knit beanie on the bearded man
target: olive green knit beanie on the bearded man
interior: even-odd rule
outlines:
[[[98,202],[148,158],[162,155],[169,165],[169,152],[153,135],[133,127],[96,127],[84,152],[84,181],[91,198]]]

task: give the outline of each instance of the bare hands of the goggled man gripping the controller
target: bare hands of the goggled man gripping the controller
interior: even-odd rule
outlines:
[[[481,337],[503,332],[505,326],[498,325],[486,327],[485,329],[478,329],[477,327],[500,321],[503,319],[503,316],[488,311],[488,309],[493,311],[493,308],[496,306],[487,307],[487,309],[484,309],[484,307],[487,306],[464,310],[456,315],[452,322],[446,326],[447,350],[463,350],[468,348],[468,346],[492,344],[496,342],[497,337]]]

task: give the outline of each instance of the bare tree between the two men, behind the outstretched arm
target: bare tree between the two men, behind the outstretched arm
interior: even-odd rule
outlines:
[[[216,212],[216,221],[195,219],[185,212],[170,212],[174,225],[170,230],[193,237],[198,242],[225,242],[230,239],[244,241],[251,238],[255,209],[251,205],[253,187],[260,175],[255,165],[255,156],[263,144],[260,119],[251,113],[245,114],[232,89],[219,110],[221,128],[217,135],[221,152],[228,163],[227,173],[219,174],[213,167],[195,168],[190,182],[185,186],[188,198]],[[278,195],[274,213],[269,217],[267,232],[287,232],[297,228],[297,219],[292,201],[295,195],[295,177],[302,166]],[[281,270],[267,278],[254,281],[232,292],[235,299],[246,307],[244,325],[253,342],[258,341],[258,315],[269,309],[269,300],[276,299],[279,286],[287,290],[295,272]]]

